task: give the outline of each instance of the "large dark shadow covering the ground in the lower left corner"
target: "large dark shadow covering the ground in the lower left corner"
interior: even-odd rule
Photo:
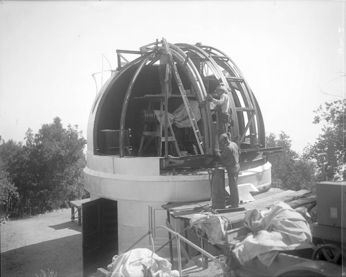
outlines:
[[[82,276],[82,234],[1,253],[1,276],[34,277],[41,269],[51,269],[58,277]]]

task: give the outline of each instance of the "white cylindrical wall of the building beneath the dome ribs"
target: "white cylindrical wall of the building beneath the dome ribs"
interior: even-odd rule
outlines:
[[[241,172],[238,181],[239,184],[270,186],[271,164]],[[119,158],[88,153],[84,186],[91,193],[91,199],[104,197],[118,201],[120,252],[149,229],[165,225],[163,204],[210,197],[208,172],[201,172],[201,175],[160,175],[157,157]],[[178,230],[179,222],[174,224]],[[163,242],[166,236],[167,232],[156,233],[159,242]],[[149,247],[149,240],[144,240],[140,246]]]

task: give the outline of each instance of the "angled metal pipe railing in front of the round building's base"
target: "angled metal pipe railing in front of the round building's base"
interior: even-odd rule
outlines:
[[[226,264],[225,262],[222,262],[221,260],[219,260],[218,258],[216,258],[215,256],[212,256],[210,253],[208,253],[207,251],[201,249],[201,247],[197,246],[196,244],[194,244],[193,242],[190,242],[190,240],[184,238],[180,233],[176,233],[174,231],[172,231],[171,229],[167,228],[166,226],[156,226],[154,229],[149,230],[147,233],[145,233],[145,235],[143,235],[142,238],[140,238],[139,240],[137,240],[134,244],[131,245],[131,247],[129,247],[125,252],[134,249],[134,247],[141,242],[142,240],[144,240],[147,235],[149,235],[150,240],[152,241],[152,247],[153,247],[153,252],[155,253],[155,249],[154,249],[154,239],[152,236],[152,233],[156,230],[156,229],[165,229],[168,231],[168,233],[171,233],[172,235],[174,235],[174,238],[176,238],[176,250],[178,252],[178,268],[179,268],[179,276],[183,276],[182,274],[182,269],[181,269],[181,248],[180,248],[180,241],[182,240],[183,242],[187,243],[190,245],[190,247],[193,247],[194,249],[196,249],[197,251],[201,252],[202,254],[202,261],[203,261],[203,256],[206,256],[207,258],[210,258],[210,260],[213,260],[215,262],[217,262],[217,264],[219,264],[219,266],[221,267],[222,271],[224,271],[225,273],[225,269],[226,269]],[[173,238],[173,239],[174,239]],[[170,242],[170,241],[169,241]],[[169,242],[167,242],[165,245],[167,245]],[[162,249],[163,247],[161,247],[160,249]],[[160,250],[158,249],[158,250]],[[124,252],[124,253],[125,253]]]

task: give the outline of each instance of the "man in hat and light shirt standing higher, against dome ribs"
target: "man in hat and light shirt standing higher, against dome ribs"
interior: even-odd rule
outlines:
[[[228,132],[228,123],[230,121],[230,98],[228,98],[226,87],[223,85],[218,86],[215,89],[215,94],[219,97],[219,100],[212,98],[210,94],[207,95],[207,100],[215,103],[217,106],[221,107],[221,116],[219,118],[220,130],[219,134],[224,134]]]

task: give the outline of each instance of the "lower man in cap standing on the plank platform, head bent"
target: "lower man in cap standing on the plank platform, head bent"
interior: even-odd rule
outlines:
[[[230,188],[230,204],[232,208],[239,206],[239,193],[237,179],[239,174],[239,148],[237,143],[230,141],[227,134],[219,137],[221,153],[217,150],[217,157],[224,164],[228,175],[228,186]]]

